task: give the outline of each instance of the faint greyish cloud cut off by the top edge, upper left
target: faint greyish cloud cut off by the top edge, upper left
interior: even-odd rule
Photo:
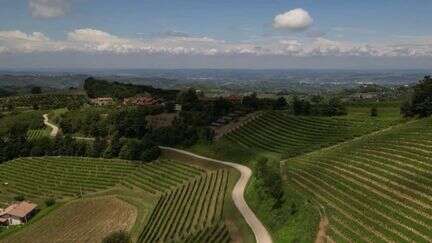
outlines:
[[[30,13],[35,18],[57,18],[66,15],[70,0],[29,0]]]

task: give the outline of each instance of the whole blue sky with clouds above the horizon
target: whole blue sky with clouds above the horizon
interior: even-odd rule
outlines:
[[[430,0],[0,0],[0,69],[432,68]]]

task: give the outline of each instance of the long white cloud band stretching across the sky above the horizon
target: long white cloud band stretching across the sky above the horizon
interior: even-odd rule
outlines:
[[[1,53],[109,53],[163,55],[277,55],[277,56],[369,56],[432,57],[432,38],[399,40],[392,43],[353,43],[318,38],[263,38],[249,42],[228,42],[210,37],[125,38],[96,29],[77,29],[64,40],[52,40],[43,33],[0,31]]]

